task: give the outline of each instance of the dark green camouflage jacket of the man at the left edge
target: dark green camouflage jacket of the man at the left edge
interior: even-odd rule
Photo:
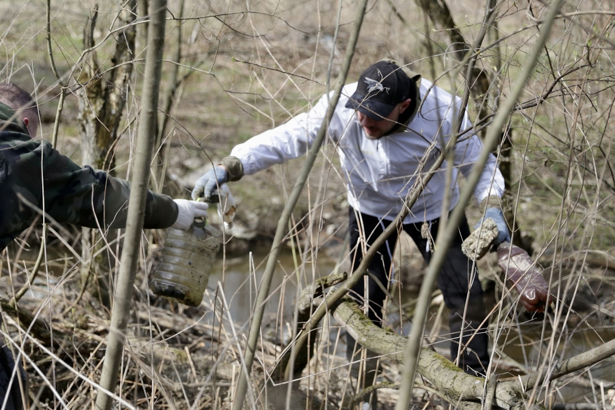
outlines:
[[[30,226],[41,211],[56,222],[124,228],[130,183],[84,166],[31,139],[21,120],[0,104],[0,250]],[[37,211],[37,209],[39,211]],[[144,228],[167,228],[178,209],[166,195],[148,191]]]

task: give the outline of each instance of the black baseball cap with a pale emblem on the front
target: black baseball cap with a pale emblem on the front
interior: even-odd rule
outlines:
[[[346,108],[359,110],[374,120],[382,120],[391,114],[397,104],[408,98],[408,75],[391,61],[378,61],[362,72],[357,90],[346,103]]]

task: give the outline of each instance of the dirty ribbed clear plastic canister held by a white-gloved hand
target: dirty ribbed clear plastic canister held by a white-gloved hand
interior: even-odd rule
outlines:
[[[199,306],[219,249],[220,232],[205,220],[195,220],[186,231],[167,228],[149,287],[158,296]]]

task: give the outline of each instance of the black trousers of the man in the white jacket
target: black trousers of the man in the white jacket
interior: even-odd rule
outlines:
[[[391,221],[370,215],[357,215],[357,212],[352,207],[350,208],[348,228],[353,271],[359,266],[363,258],[363,249],[369,249],[390,223]],[[439,219],[428,222],[431,241],[421,236],[423,223],[411,223],[402,226],[403,230],[415,241],[426,263],[431,260],[432,244],[435,242],[438,223]],[[372,322],[379,326],[382,325],[382,309],[386,293],[373,277],[376,277],[384,288],[389,288],[389,272],[391,271],[392,255],[398,234],[399,230],[392,234],[380,247],[378,255],[371,261],[368,267],[370,277],[367,280],[367,293],[365,280],[360,280],[359,284],[352,288],[353,296],[360,302],[365,300],[365,295],[368,296],[368,316]],[[442,291],[444,302],[450,312],[448,325],[451,331],[451,358],[453,360],[457,358],[459,336],[461,335],[462,350],[459,357],[459,367],[466,373],[474,375],[485,373],[489,364],[489,352],[488,335],[486,333],[487,322],[484,320],[486,311],[483,302],[483,289],[478,280],[477,270],[472,270],[472,262],[461,250],[461,243],[469,234],[470,228],[464,216],[459,223],[459,235],[453,238],[446,261],[438,275],[437,285]],[[467,310],[466,298],[468,299]],[[465,322],[464,311],[466,312]],[[483,325],[480,325],[483,320]]]

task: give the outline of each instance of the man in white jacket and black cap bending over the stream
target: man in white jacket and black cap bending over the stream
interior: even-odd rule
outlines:
[[[329,98],[322,96],[308,112],[236,145],[229,157],[197,181],[192,198],[204,196],[211,201],[216,188],[224,182],[304,155],[325,118]],[[400,68],[392,60],[378,61],[360,75],[359,82],[344,87],[328,126],[328,139],[336,144],[347,180],[353,268],[359,266],[363,249],[368,248],[402,211],[404,199],[415,187],[420,172],[431,167],[448,138],[457,132],[454,125],[462,109],[459,98],[421,80],[419,75]],[[447,181],[449,164],[445,162],[403,220],[403,230],[416,242],[427,263],[443,201],[445,198],[450,201],[450,210],[458,203],[459,172],[467,176],[483,149],[467,114],[463,116],[460,131],[454,149],[451,183]],[[488,216],[498,223],[499,241],[509,236],[498,207],[503,192],[504,179],[496,158],[491,155],[474,196],[479,203],[489,204]],[[461,250],[461,242],[469,233],[464,218],[437,284],[450,309],[451,357],[458,360],[459,367],[467,373],[484,374],[489,354],[483,291],[477,272]],[[397,234],[394,234],[371,262],[367,289],[363,281],[353,288],[353,296],[367,301],[368,315],[378,325],[382,323],[386,297],[383,287],[387,288],[391,279],[396,241]],[[467,306],[466,300],[469,301]]]

